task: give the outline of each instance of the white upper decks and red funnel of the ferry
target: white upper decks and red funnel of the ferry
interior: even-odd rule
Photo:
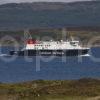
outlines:
[[[79,45],[79,41],[33,41],[28,40],[26,50],[66,50],[66,49],[86,49]],[[23,49],[23,50],[24,50]]]

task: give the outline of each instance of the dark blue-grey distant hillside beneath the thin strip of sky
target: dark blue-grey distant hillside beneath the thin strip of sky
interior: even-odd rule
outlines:
[[[41,27],[99,27],[100,1],[0,5],[0,30]]]

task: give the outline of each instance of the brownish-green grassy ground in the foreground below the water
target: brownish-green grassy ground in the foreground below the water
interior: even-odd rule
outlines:
[[[97,96],[100,80],[95,79],[0,84],[0,100],[86,100]]]

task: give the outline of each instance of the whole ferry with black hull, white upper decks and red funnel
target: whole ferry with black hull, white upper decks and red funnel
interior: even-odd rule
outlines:
[[[88,54],[90,48],[83,47],[79,41],[37,41],[28,39],[20,51],[10,51],[18,56],[80,56]]]

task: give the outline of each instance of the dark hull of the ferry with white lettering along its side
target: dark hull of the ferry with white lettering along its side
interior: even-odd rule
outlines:
[[[78,56],[88,54],[89,49],[72,50],[25,50],[10,51],[10,55],[18,56]]]

